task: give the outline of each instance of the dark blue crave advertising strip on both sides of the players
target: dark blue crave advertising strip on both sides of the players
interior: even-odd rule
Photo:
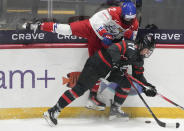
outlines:
[[[139,29],[138,37],[153,33],[156,43],[184,44],[184,30],[146,30]],[[77,36],[63,36],[61,34],[25,30],[1,30],[0,44],[31,44],[31,43],[87,43],[87,39]]]

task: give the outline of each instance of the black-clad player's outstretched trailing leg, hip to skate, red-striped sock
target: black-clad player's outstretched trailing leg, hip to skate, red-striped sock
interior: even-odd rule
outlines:
[[[76,86],[65,91],[56,105],[44,113],[44,118],[50,126],[57,125],[57,118],[63,108],[82,96],[88,89],[92,88],[96,81],[104,77],[110,70],[109,68],[103,67],[104,65],[102,62],[99,62],[99,59],[97,55],[90,57],[79,76]],[[98,62],[98,64],[96,64],[96,62]]]

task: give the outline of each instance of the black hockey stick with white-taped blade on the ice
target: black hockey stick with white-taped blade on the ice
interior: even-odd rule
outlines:
[[[149,112],[151,113],[151,115],[153,116],[153,118],[155,119],[155,121],[157,122],[157,124],[159,126],[161,126],[161,127],[176,127],[176,128],[179,128],[180,124],[178,122],[177,123],[165,123],[165,122],[160,121],[155,116],[155,114],[153,113],[153,111],[151,110],[151,108],[148,106],[148,104],[146,103],[146,101],[144,100],[144,98],[142,97],[142,95],[139,93],[139,91],[137,90],[137,88],[134,86],[133,82],[131,81],[132,76],[128,75],[127,73],[126,73],[126,76],[127,76],[128,80],[129,80],[130,84],[136,90],[137,94],[139,95],[139,97],[143,101],[144,105],[147,107],[147,109],[149,110]]]

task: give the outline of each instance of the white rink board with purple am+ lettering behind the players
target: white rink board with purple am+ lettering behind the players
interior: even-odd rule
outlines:
[[[0,107],[53,106],[69,89],[63,77],[80,72],[88,58],[87,48],[5,49],[0,50]],[[184,105],[183,49],[156,49],[145,59],[145,77],[165,96]],[[88,93],[69,106],[83,107]],[[113,97],[111,90],[102,93],[107,104]],[[153,107],[173,107],[159,97],[143,97]],[[140,98],[128,96],[125,107],[144,107]]]

